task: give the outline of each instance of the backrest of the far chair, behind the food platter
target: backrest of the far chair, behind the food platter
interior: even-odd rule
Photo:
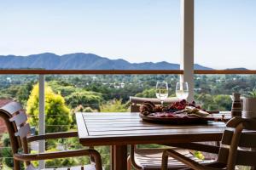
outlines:
[[[156,98],[139,98],[139,97],[130,97],[130,102],[131,102],[131,112],[139,112],[140,110],[140,105],[143,104],[143,102],[145,101],[151,101],[152,103],[156,104],[156,105],[160,105],[161,102],[159,99]],[[178,99],[177,98],[168,98],[165,99],[164,103],[165,104],[171,104],[171,103],[175,103],[177,102]]]

